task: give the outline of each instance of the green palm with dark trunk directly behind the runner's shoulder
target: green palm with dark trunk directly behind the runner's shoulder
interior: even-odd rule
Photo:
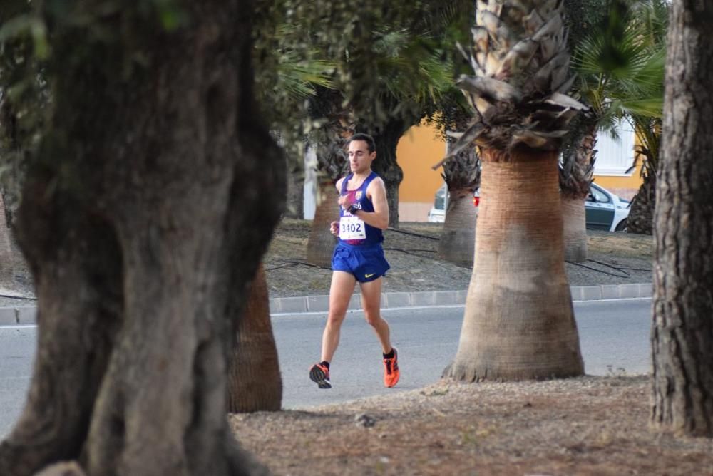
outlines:
[[[448,109],[455,66],[453,38],[472,11],[470,0],[425,1],[384,8],[367,1],[344,25],[352,36],[329,47],[338,61],[339,96],[330,109],[353,118],[355,132],[376,142],[374,171],[384,180],[389,225],[399,223],[399,185],[403,171],[396,145],[412,125]],[[329,118],[328,118],[329,119]]]

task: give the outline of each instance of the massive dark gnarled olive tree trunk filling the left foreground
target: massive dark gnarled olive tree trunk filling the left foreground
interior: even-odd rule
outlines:
[[[48,21],[54,112],[17,217],[38,352],[1,475],[260,471],[225,419],[237,317],[284,205],[252,4],[188,2],[168,32],[139,3],[66,2],[99,23]]]

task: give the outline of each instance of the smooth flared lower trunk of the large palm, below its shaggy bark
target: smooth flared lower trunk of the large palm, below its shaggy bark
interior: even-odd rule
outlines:
[[[473,276],[456,357],[462,381],[583,374],[564,268],[556,153],[503,157],[483,150]],[[504,159],[504,160],[503,160]],[[533,180],[538,177],[538,180]]]

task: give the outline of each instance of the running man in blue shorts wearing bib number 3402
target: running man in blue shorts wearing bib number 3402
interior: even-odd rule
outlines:
[[[381,276],[389,263],[384,258],[381,230],[389,227],[389,205],[384,180],[371,171],[376,145],[371,135],[355,134],[348,141],[352,173],[337,181],[339,222],[332,222],[332,234],[339,237],[332,255],[332,285],[329,288],[329,316],[322,335],[322,361],[309,369],[309,378],[319,388],[332,388],[329,363],[339,346],[339,332],[347,316],[349,299],[356,281],[361,288],[361,307],[366,322],[376,331],[384,358],[384,386],[399,381],[396,349],[391,347],[389,324],[381,318]]]

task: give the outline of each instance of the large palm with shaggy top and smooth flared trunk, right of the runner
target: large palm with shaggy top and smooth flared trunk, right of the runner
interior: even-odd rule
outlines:
[[[481,206],[458,352],[443,375],[464,381],[584,371],[564,269],[558,153],[584,106],[565,95],[563,2],[478,0],[473,76],[458,81],[474,119],[451,155],[481,151]],[[538,177],[538,180],[533,180]]]

